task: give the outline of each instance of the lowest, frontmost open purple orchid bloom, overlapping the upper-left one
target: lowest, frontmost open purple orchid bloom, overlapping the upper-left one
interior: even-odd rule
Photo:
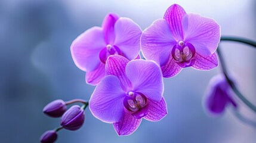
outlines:
[[[133,133],[142,118],[156,122],[165,117],[164,83],[155,62],[111,55],[106,74],[91,95],[89,108],[97,119],[113,123],[118,135]]]

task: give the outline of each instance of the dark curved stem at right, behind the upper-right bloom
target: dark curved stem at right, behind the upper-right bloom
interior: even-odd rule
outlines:
[[[256,48],[256,42],[248,40],[248,39],[243,39],[243,38],[222,36],[220,41],[236,41],[236,42],[240,42],[240,43],[246,43],[246,44],[254,46],[254,48]],[[218,57],[220,59],[222,71],[224,73],[224,76],[226,77],[227,82],[229,83],[229,85],[231,86],[233,91],[236,93],[236,95],[240,98],[240,100],[242,100],[249,108],[251,108],[251,110],[253,110],[256,113],[256,106],[254,104],[252,104],[249,100],[247,100],[242,95],[242,93],[236,87],[235,83],[230,79],[229,74],[227,73],[226,64],[224,62],[223,56],[222,56],[219,48],[220,48],[220,46],[218,46],[218,48],[217,48],[217,53],[218,53]]]

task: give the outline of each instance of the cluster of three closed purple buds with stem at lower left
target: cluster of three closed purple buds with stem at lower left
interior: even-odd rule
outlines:
[[[82,107],[73,105],[67,110],[67,105],[82,102]],[[88,102],[84,100],[72,100],[64,102],[63,100],[54,100],[47,104],[43,112],[50,117],[61,117],[60,128],[54,130],[47,130],[40,138],[42,143],[51,143],[57,139],[57,132],[61,129],[78,130],[84,124],[85,113]]]

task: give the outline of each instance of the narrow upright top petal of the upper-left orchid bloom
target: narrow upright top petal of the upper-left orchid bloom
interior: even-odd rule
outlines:
[[[104,37],[107,44],[112,44],[115,41],[115,23],[119,19],[119,15],[115,13],[109,13],[103,20],[102,28],[104,31]]]

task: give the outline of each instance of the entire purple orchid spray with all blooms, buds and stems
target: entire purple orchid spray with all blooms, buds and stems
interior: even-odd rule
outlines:
[[[223,75],[214,77],[209,84],[203,100],[206,110],[220,115],[227,105],[238,108],[236,94],[256,112],[227,74],[217,49],[221,40],[225,38],[221,39],[220,25],[214,19],[187,14],[177,4],[145,30],[130,18],[107,14],[101,27],[86,30],[70,46],[74,63],[86,72],[85,81],[95,86],[89,102],[68,110],[66,105],[71,102],[62,100],[45,106],[48,116],[62,116],[61,128],[45,132],[41,142],[54,142],[60,129],[81,128],[87,105],[94,117],[112,123],[118,135],[131,135],[143,119],[162,120],[168,113],[163,77],[174,77],[187,67],[214,69],[218,66],[217,54]],[[256,47],[252,41],[226,40]]]

